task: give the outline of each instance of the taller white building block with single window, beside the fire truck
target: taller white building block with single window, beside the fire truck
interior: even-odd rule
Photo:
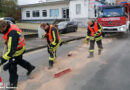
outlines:
[[[96,18],[96,6],[99,4],[96,0],[70,0],[70,20],[77,21],[80,26],[86,26],[89,18]]]

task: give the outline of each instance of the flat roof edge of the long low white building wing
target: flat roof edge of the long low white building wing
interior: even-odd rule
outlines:
[[[35,3],[35,4],[27,4],[27,5],[19,5],[21,8],[25,7],[36,7],[36,6],[46,6],[46,5],[54,5],[54,4],[63,4],[63,3],[69,3],[69,0],[62,0],[62,1],[55,1],[55,2],[42,2],[42,3]]]

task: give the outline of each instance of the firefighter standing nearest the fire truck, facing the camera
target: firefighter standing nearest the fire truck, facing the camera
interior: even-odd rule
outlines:
[[[102,46],[102,27],[96,21],[88,20],[88,31],[86,40],[87,42],[90,41],[90,48],[89,53],[90,55],[88,58],[92,58],[94,56],[94,44],[97,43],[98,46],[98,55],[101,55],[101,51],[103,49]]]

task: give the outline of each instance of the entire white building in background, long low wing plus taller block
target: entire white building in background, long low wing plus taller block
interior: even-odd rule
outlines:
[[[20,5],[23,21],[70,19],[85,26],[88,18],[95,17],[95,0],[39,0],[40,3]]]

